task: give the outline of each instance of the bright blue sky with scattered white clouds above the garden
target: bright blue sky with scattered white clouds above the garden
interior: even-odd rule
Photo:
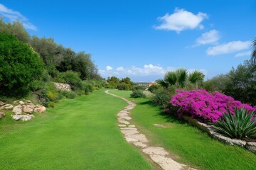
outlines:
[[[250,59],[256,1],[2,0],[0,16],[31,35],[92,55],[102,77],[154,81],[169,70],[206,79]]]

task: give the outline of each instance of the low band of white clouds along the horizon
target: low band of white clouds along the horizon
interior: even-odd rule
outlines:
[[[149,78],[151,81],[154,81],[156,79],[162,79],[164,77],[164,74],[168,71],[174,71],[176,68],[174,67],[161,67],[154,64],[144,64],[143,67],[117,67],[117,69],[106,69],[106,70],[99,70],[99,73],[102,77],[131,77],[132,79],[137,79],[137,81],[142,81],[142,79]],[[188,69],[189,72],[192,72],[195,69]],[[205,69],[199,69],[199,71],[203,72],[204,74],[207,74],[207,71]],[[144,77],[144,78],[143,78]]]

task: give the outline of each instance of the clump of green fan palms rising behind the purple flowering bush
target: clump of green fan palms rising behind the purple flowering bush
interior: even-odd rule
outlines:
[[[174,72],[166,72],[164,79],[156,80],[156,83],[168,88],[168,86],[176,85],[184,88],[188,84],[198,84],[203,81],[204,74],[197,70],[189,73],[186,69],[177,69]]]

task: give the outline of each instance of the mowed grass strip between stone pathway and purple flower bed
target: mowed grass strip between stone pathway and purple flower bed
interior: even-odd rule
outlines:
[[[137,103],[132,121],[151,143],[169,150],[174,159],[197,169],[256,169],[256,155],[240,147],[224,145],[206,133],[166,115],[146,98],[130,98],[130,91],[110,91]],[[157,127],[154,124],[163,125]]]

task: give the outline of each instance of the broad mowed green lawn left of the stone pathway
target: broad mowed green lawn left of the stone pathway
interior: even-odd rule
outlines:
[[[127,103],[95,91],[33,120],[0,120],[0,169],[152,169],[117,127]]]

